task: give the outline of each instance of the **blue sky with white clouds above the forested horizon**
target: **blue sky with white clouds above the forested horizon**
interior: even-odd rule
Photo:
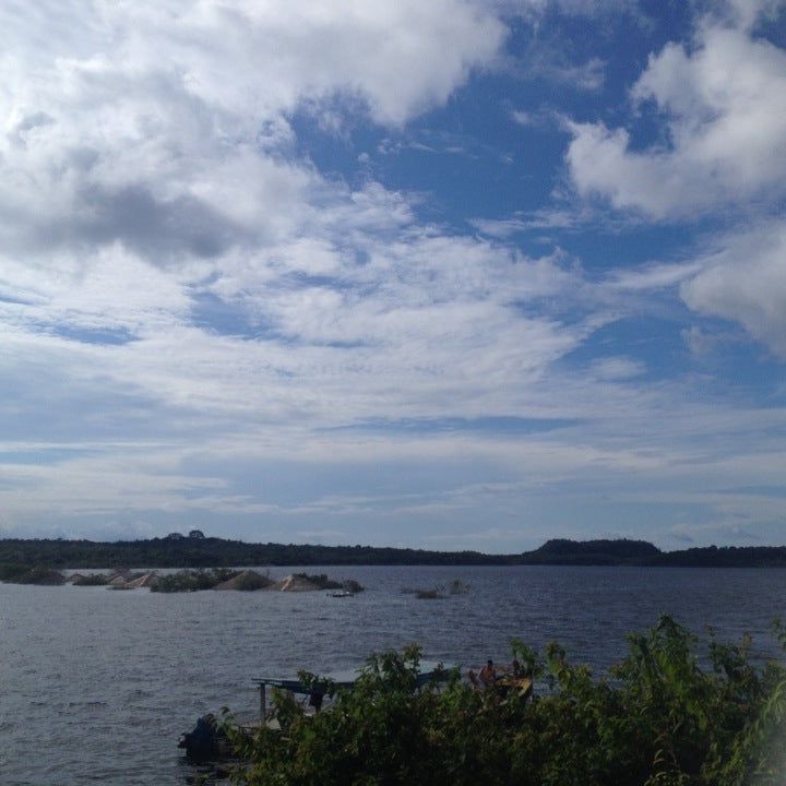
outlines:
[[[786,3],[5,0],[0,537],[786,543]]]

